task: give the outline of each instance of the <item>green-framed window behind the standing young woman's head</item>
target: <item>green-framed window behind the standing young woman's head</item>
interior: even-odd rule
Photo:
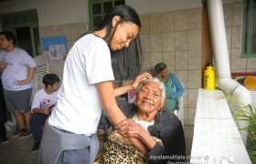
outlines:
[[[125,0],[89,0],[90,27],[94,28],[101,22],[104,15],[117,5],[125,5]]]

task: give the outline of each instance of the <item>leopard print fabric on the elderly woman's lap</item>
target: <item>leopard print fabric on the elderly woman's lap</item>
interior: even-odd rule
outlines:
[[[162,144],[161,139],[155,141]],[[104,143],[102,152],[94,164],[144,164],[146,157],[133,147],[127,138],[113,131]]]

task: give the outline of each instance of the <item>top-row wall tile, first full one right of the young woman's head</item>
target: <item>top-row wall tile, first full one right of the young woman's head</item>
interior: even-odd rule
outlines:
[[[150,34],[159,34],[162,32],[162,16],[160,14],[150,15],[149,29]]]

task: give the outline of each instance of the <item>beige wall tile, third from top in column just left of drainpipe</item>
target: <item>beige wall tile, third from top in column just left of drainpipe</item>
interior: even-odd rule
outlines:
[[[201,50],[188,51],[188,69],[201,69]]]

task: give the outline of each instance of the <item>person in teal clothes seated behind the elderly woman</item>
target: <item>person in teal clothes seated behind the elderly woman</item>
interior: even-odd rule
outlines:
[[[165,108],[169,112],[178,110],[178,97],[181,97],[185,89],[174,73],[169,73],[165,63],[155,65],[156,77],[165,84]]]

